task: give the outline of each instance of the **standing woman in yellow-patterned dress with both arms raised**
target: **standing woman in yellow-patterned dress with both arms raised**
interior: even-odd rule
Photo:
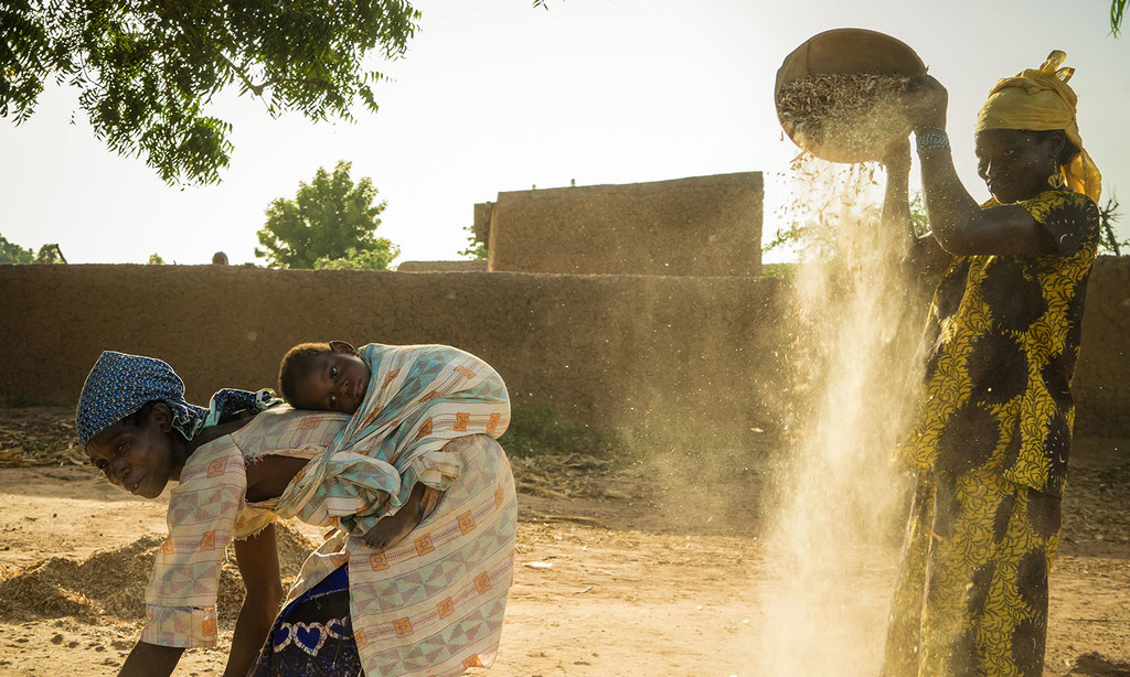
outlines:
[[[1000,80],[977,118],[977,204],[954,169],[946,89],[912,79],[932,234],[948,264],[927,319],[925,373],[899,456],[916,487],[883,674],[1042,675],[1060,537],[1071,380],[1098,235],[1101,176],[1055,51]],[[910,222],[910,147],[884,160],[885,219]]]

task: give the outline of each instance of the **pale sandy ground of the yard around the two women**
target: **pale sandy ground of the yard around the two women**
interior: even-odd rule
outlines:
[[[1077,445],[1051,581],[1045,675],[1130,676],[1128,448]],[[764,600],[789,565],[759,537],[755,515],[678,519],[647,473],[558,463],[560,482],[551,489],[530,478],[538,466],[515,460],[523,486],[519,565],[490,675],[805,674],[782,665],[788,657],[766,642],[781,619]],[[139,623],[99,612],[84,597],[94,590],[76,589],[89,584],[78,574],[58,604],[2,596],[36,568],[71,565],[52,557],[85,562],[163,530],[163,501],[125,495],[93,468],[0,468],[0,675],[115,674]],[[831,672],[845,676],[877,674],[897,551],[855,555],[836,581],[861,600],[853,650],[831,657]],[[72,613],[59,610],[64,603]],[[224,648],[189,651],[176,675],[218,674],[224,661]]]

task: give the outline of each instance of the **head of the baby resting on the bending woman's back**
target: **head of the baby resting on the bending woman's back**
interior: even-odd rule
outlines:
[[[368,364],[345,341],[301,343],[279,364],[279,392],[295,408],[357,411],[368,387]]]

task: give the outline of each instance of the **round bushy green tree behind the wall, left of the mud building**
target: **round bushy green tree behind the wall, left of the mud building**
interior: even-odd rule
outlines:
[[[373,179],[354,184],[351,167],[345,160],[333,174],[320,167],[313,181],[298,184],[294,200],[271,202],[259,231],[263,248],[255,256],[266,257],[270,267],[371,267],[382,261],[379,270],[388,267],[400,249],[374,235],[388,203],[375,202]],[[353,263],[330,264],[336,261]]]

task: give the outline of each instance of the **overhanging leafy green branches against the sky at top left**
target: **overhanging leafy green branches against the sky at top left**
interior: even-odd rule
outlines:
[[[95,134],[168,183],[217,183],[232,125],[209,114],[237,85],[277,116],[353,121],[376,111],[363,69],[403,54],[420,14],[403,0],[5,0],[0,115],[18,124],[53,77],[79,90]]]

